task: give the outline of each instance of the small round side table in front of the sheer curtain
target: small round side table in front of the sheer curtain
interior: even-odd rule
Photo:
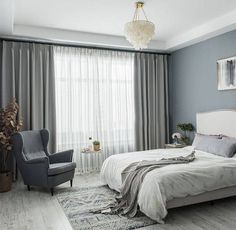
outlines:
[[[81,152],[82,173],[99,172],[105,160],[102,150]]]

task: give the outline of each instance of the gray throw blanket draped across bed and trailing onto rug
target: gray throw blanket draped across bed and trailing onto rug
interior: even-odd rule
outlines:
[[[142,185],[144,177],[148,172],[162,168],[171,164],[184,164],[192,162],[195,159],[193,151],[186,157],[163,158],[159,161],[140,161],[130,164],[122,172],[122,186],[120,195],[116,197],[117,202],[110,204],[99,212],[104,214],[123,214],[129,217],[134,217],[138,211],[138,193]]]

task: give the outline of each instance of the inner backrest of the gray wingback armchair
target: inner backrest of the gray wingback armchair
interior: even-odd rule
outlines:
[[[43,132],[42,132],[43,131]],[[23,140],[23,151],[26,160],[42,158],[47,156],[47,142],[42,135],[47,130],[31,130],[20,132]]]

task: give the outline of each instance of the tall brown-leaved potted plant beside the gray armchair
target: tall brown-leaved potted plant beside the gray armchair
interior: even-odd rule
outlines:
[[[16,99],[0,109],[0,192],[11,190],[12,172],[10,171],[9,158],[12,150],[11,136],[19,132],[22,119],[17,119],[19,106]]]

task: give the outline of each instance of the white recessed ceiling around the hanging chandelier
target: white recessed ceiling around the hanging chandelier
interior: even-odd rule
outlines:
[[[23,32],[19,32],[19,28],[28,26],[47,29],[48,32],[49,29],[54,29],[111,36],[123,36],[124,24],[133,17],[135,2],[134,0],[1,1],[12,1],[14,5],[12,34],[16,28],[18,34],[23,35]],[[236,19],[234,21],[233,18],[232,21],[232,17],[229,17],[236,11],[235,0],[145,0],[144,2],[148,19],[156,26],[154,40],[162,45],[165,43],[166,48],[168,48],[167,43],[173,43],[184,34],[191,33],[193,36],[194,30],[198,31],[202,27],[202,31],[205,25],[212,27],[211,24],[215,22],[215,26],[216,23],[219,26],[219,20],[222,26],[218,29],[235,28],[232,25],[236,24]],[[229,18],[231,23],[227,21]],[[208,34],[210,32],[208,31]]]

